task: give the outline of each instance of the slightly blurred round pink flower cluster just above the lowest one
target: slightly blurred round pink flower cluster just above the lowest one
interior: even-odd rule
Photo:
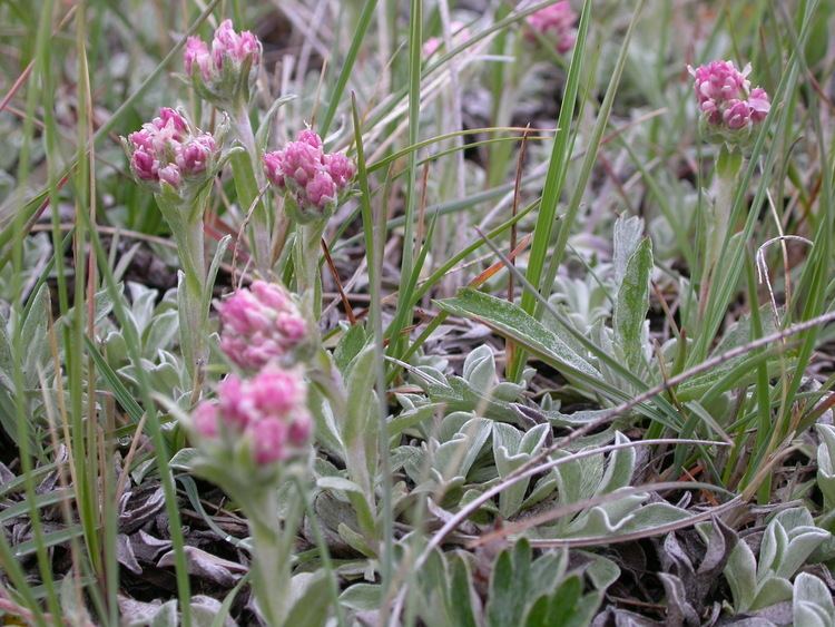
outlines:
[[[289,293],[274,283],[254,281],[217,310],[223,322],[220,349],[244,370],[289,362],[307,339],[307,322]]]

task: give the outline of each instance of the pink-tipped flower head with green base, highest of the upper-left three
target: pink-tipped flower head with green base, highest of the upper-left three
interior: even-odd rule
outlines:
[[[261,41],[255,35],[236,32],[232,20],[224,20],[210,47],[199,37],[188,38],[183,66],[200,96],[228,110],[249,100],[261,56]]]

